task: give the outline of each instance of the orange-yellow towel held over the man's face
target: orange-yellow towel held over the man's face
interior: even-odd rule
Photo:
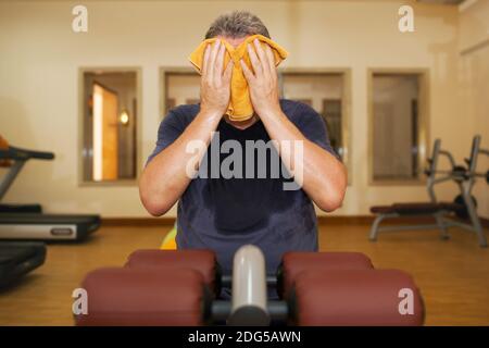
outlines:
[[[229,119],[233,121],[246,121],[253,116],[253,107],[250,100],[250,91],[248,89],[248,83],[242,74],[241,64],[239,63],[240,59],[244,61],[247,66],[253,71],[253,67],[250,62],[250,57],[248,54],[247,45],[251,44],[254,48],[253,40],[258,38],[264,48],[264,45],[268,45],[272,48],[272,51],[275,57],[275,65],[280,64],[283,60],[287,57],[287,51],[283,49],[280,46],[264,37],[262,35],[252,35],[248,37],[244,41],[241,42],[236,49],[227,41],[221,40],[222,44],[226,47],[226,53],[224,54],[224,69],[226,69],[227,63],[230,59],[233,59],[233,77],[231,77],[231,90],[230,90],[230,101],[227,108],[226,114],[229,115]],[[197,72],[200,74],[202,69],[203,55],[205,51],[205,47],[208,44],[212,44],[216,40],[216,38],[206,39],[202,41],[199,47],[190,54],[189,60],[190,63],[193,64]]]

